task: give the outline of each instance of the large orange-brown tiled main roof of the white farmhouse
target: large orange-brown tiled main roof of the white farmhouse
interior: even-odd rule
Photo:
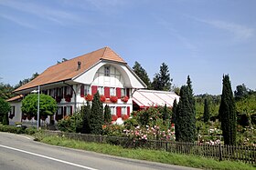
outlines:
[[[80,75],[82,72],[91,68],[92,65],[95,65],[101,60],[110,60],[125,64],[123,58],[113,52],[110,47],[103,47],[89,54],[80,55],[63,63],[48,67],[48,69],[46,69],[42,74],[38,75],[37,78],[31,82],[28,82],[26,85],[20,86],[15,90],[15,92],[36,87],[38,85],[47,85],[69,80],[76,75]],[[78,62],[80,62],[79,70]]]

